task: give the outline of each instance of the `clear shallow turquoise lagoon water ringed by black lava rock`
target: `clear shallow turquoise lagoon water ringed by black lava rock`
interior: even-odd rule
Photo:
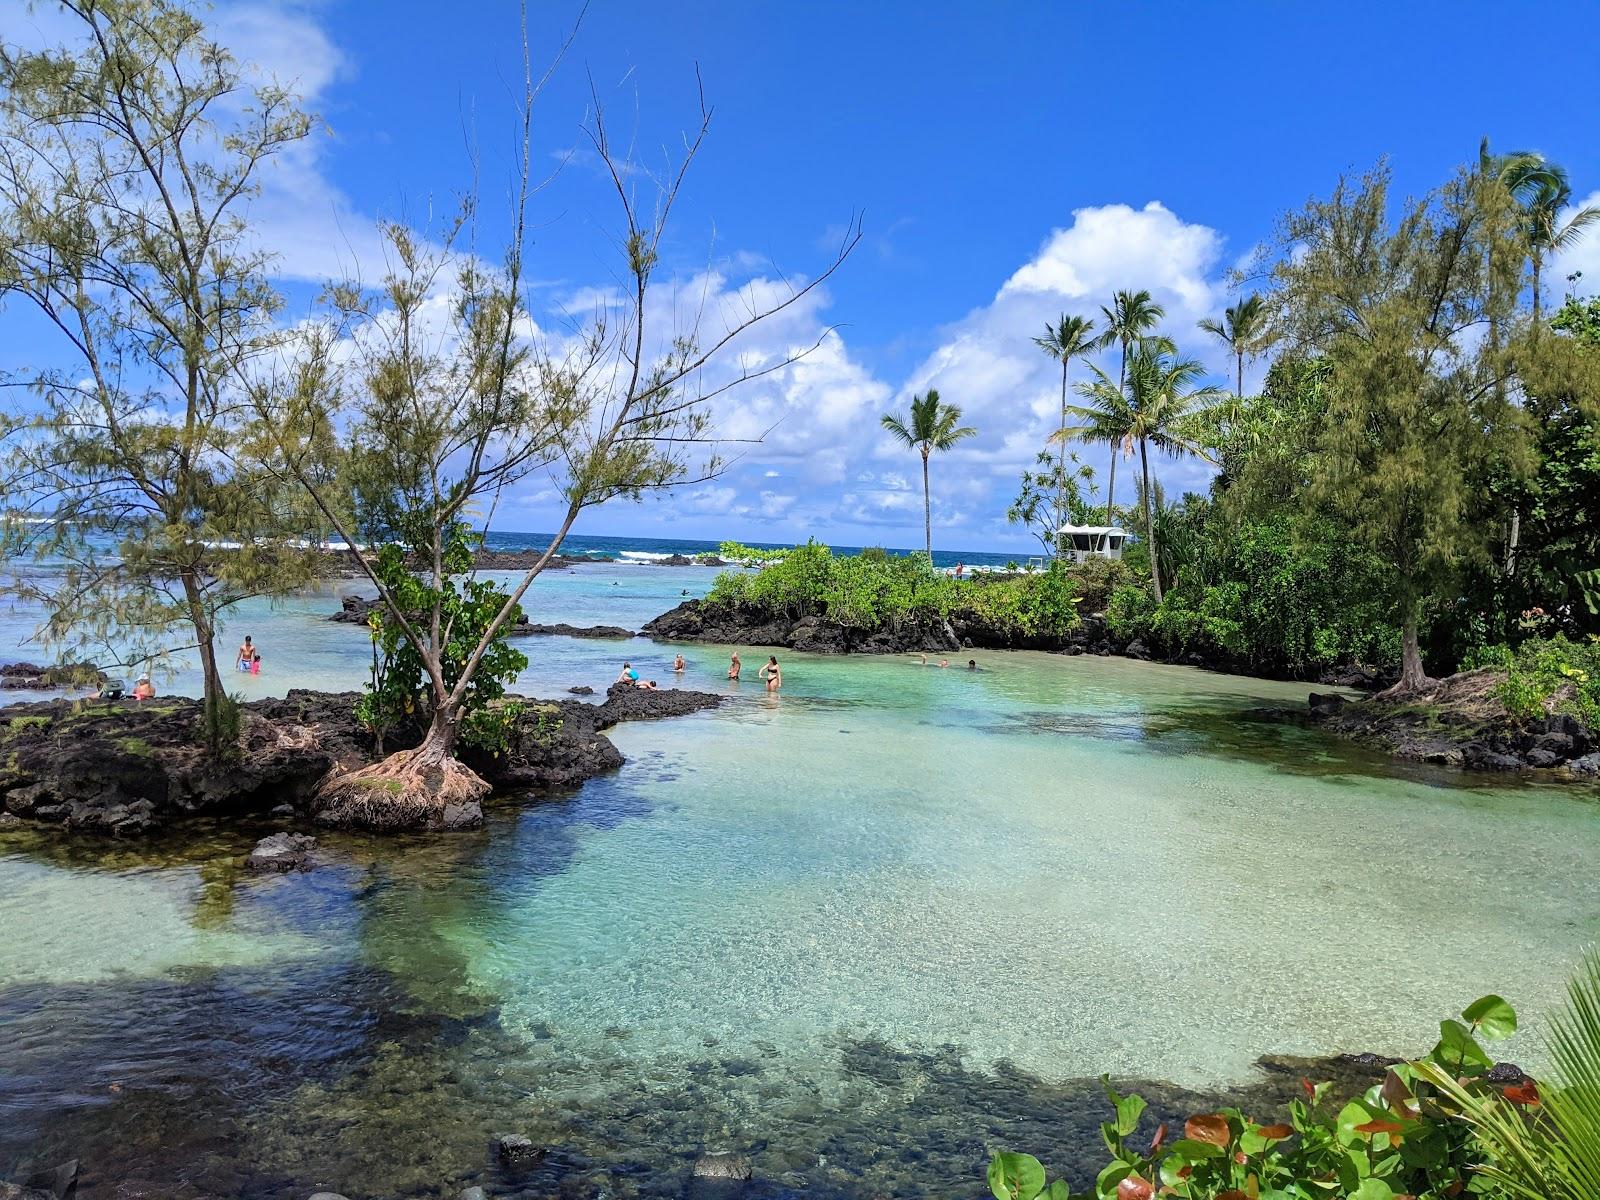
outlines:
[[[709,579],[584,568],[533,619],[637,627]],[[285,662],[246,694],[358,682],[333,603],[245,616]],[[645,642],[526,648],[536,694],[624,656],[670,678]],[[685,656],[722,709],[614,730],[622,771],[482,834],[331,837],[270,880],[237,874],[262,830],[0,835],[0,1176],[70,1150],[216,1194],[434,1195],[522,1128],[562,1147],[530,1194],[674,1194],[730,1146],[770,1186],[970,1195],[1000,1144],[1086,1154],[1102,1070],[1230,1090],[1261,1053],[1426,1050],[1488,990],[1536,1027],[1600,931],[1592,792],[1250,715],[1304,685],[786,654],[773,698]]]

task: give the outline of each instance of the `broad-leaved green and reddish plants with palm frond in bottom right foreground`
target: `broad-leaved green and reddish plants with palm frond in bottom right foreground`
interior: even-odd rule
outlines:
[[[1592,1200],[1600,1195],[1600,954],[1586,957],[1565,1014],[1549,1037],[1554,1077],[1501,1085],[1485,1042],[1517,1030],[1506,1000],[1486,995],[1440,1024],[1424,1058],[1390,1067],[1382,1083],[1344,1104],[1326,1083],[1302,1083],[1288,1120],[1259,1122],[1238,1109],[1200,1114],[1181,1136],[1162,1125],[1134,1138],[1139,1096],[1109,1085],[1112,1120],[1101,1125],[1110,1162],[1093,1187],[1046,1186],[1027,1154],[989,1165],[995,1200]]]

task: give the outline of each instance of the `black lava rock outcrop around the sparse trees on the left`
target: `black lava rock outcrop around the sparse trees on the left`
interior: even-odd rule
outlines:
[[[317,786],[334,770],[374,762],[355,722],[357,693],[293,690],[243,706],[238,752],[213,762],[200,749],[192,699],[54,699],[0,707],[0,829],[30,822],[136,837],[189,816],[243,816],[282,806],[317,821]],[[603,730],[626,720],[715,707],[702,691],[613,686],[600,704],[525,701],[502,754],[464,747],[462,762],[494,795],[571,789],[622,765]],[[421,730],[390,734],[406,749]],[[475,821],[482,822],[482,813]]]

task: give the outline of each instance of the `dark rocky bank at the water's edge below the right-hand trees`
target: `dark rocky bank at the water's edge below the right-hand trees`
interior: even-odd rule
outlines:
[[[1565,712],[1512,717],[1496,696],[1502,678],[1493,667],[1464,670],[1411,699],[1312,693],[1309,720],[1411,762],[1600,779],[1600,733]]]

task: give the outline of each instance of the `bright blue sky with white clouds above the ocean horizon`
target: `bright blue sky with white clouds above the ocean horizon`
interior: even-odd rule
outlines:
[[[0,29],[32,40],[43,10],[0,0]],[[544,62],[579,6],[533,10]],[[469,142],[485,211],[502,211],[514,5],[245,0],[214,19],[323,122],[258,213],[294,306],[310,280],[373,262],[374,219],[448,211],[470,182]],[[736,288],[773,264],[816,270],[854,213],[866,238],[826,293],[758,334],[776,349],[837,325],[822,352],[718,411],[730,430],[776,422],[768,442],[712,483],[592,512],[579,530],[917,544],[917,462],[877,418],[934,386],[981,430],[936,461],[936,542],[1026,549],[1003,512],[1053,421],[1059,376],[1030,342],[1045,320],[1150,288],[1166,331],[1224,381],[1194,322],[1230,302],[1227,270],[1274,221],[1341,171],[1389,155],[1398,190],[1422,190],[1488,134],[1563,162],[1589,195],[1597,34],[1600,6],[1576,3],[595,0],[539,101],[541,163],[581,146],[590,80],[613,126],[659,162],[694,120],[698,64],[715,120],[669,269],[710,267]],[[614,200],[584,155],[539,194],[534,221],[536,315],[614,280]],[[1557,293],[1578,267],[1600,282],[1600,250],[1550,270]],[[1104,448],[1085,456],[1104,475]],[[1205,482],[1197,464],[1162,474]],[[554,506],[531,480],[502,512],[507,528],[539,530]]]

